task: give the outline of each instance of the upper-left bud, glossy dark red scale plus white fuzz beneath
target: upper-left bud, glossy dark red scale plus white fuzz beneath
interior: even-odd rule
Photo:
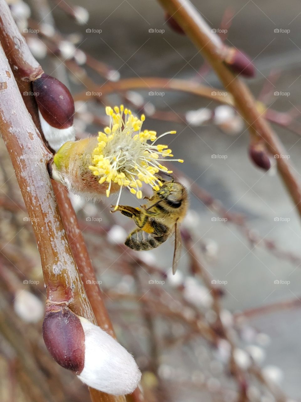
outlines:
[[[74,101],[69,89],[47,74],[33,81],[44,137],[55,151],[74,137]]]

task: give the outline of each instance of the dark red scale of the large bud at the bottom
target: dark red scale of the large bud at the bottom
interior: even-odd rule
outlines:
[[[85,334],[76,314],[67,306],[50,306],[43,321],[45,345],[55,361],[74,371],[83,371],[85,363]]]

